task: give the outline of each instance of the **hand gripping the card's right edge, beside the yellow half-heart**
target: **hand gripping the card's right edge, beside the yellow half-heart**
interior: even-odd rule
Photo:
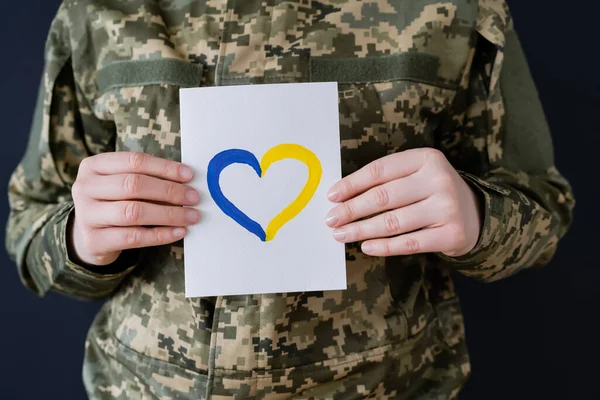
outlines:
[[[327,197],[341,202],[325,219],[336,228],[335,239],[364,240],[362,251],[372,256],[461,256],[475,247],[481,230],[477,196],[434,149],[380,158],[336,183]]]

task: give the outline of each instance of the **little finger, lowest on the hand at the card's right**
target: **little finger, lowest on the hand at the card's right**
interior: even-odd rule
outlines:
[[[444,235],[442,227],[426,228],[393,238],[367,240],[361,249],[365,254],[378,257],[446,251]]]

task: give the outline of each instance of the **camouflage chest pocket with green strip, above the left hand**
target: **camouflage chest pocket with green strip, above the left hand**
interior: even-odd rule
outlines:
[[[180,59],[119,61],[98,70],[95,113],[114,121],[117,151],[180,161],[179,89],[201,85],[203,67]]]

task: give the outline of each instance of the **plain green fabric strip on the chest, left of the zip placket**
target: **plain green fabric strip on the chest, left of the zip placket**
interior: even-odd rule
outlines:
[[[181,87],[200,86],[202,65],[173,58],[146,61],[121,61],[98,71],[98,90],[125,86],[170,83]]]

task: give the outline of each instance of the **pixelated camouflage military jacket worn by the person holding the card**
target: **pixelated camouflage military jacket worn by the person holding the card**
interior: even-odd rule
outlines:
[[[446,154],[484,208],[469,254],[348,245],[345,291],[190,299],[181,243],[97,269],[69,258],[82,159],[179,160],[182,87],[310,81],[339,84],[344,175],[409,148]],[[66,0],[9,196],[23,283],[107,299],[86,343],[94,399],[453,398],[470,364],[451,273],[547,263],[574,206],[502,0]]]

